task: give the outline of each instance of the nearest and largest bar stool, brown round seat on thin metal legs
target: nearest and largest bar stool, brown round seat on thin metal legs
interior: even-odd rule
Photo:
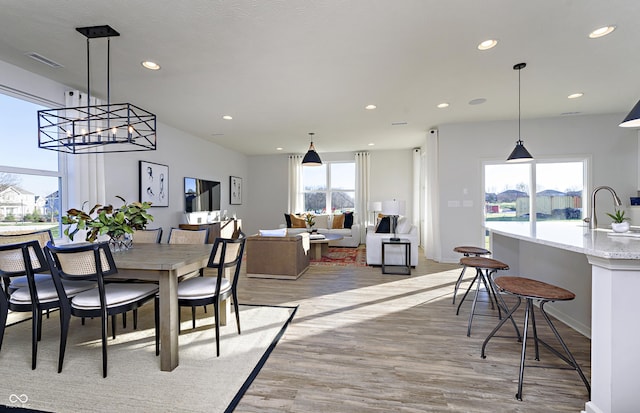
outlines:
[[[580,378],[584,382],[584,385],[587,387],[587,391],[589,392],[589,397],[591,397],[591,386],[587,381],[587,378],[582,373],[582,369],[576,362],[576,359],[573,357],[573,354],[569,351],[569,348],[560,337],[558,330],[556,330],[555,326],[551,322],[551,319],[547,315],[547,312],[544,311],[544,305],[548,302],[554,301],[569,301],[575,298],[575,294],[571,291],[565,290],[564,288],[556,287],[555,285],[547,284],[542,281],[532,280],[524,277],[512,277],[512,276],[502,276],[497,277],[494,280],[496,287],[500,292],[505,292],[508,294],[512,294],[518,298],[518,302],[516,305],[509,310],[507,316],[503,318],[498,325],[491,331],[489,336],[484,340],[482,344],[482,358],[486,358],[485,348],[489,340],[496,334],[496,332],[502,327],[508,317],[510,317],[520,306],[522,303],[522,299],[526,300],[525,311],[524,311],[524,332],[522,336],[522,354],[520,356],[520,374],[518,376],[518,393],[516,394],[516,398],[518,400],[522,400],[522,380],[524,377],[524,359],[525,353],[527,351],[527,330],[529,327],[529,317],[531,317],[531,325],[533,327],[533,342],[535,344],[536,350],[536,360],[540,360],[540,353],[538,349],[538,343],[544,345],[549,351],[551,351],[556,356],[560,357],[563,361],[565,361],[568,365],[573,367],[574,370],[578,372]],[[536,319],[533,311],[533,300],[540,302],[540,312],[542,316],[547,321],[547,324],[553,331],[553,334],[556,336],[558,342],[562,345],[566,356],[555,348],[551,347],[549,344],[544,342],[542,339],[538,338],[538,332],[536,330]]]

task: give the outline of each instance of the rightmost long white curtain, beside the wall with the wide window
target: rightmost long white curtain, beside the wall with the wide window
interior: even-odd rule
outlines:
[[[425,162],[425,256],[435,261],[442,261],[440,243],[440,197],[438,176],[438,131],[432,130],[427,135]]]

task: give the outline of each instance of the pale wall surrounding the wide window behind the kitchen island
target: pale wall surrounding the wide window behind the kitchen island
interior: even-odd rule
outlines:
[[[609,185],[628,205],[637,191],[638,139],[634,130],[618,127],[623,118],[624,114],[613,114],[526,120],[522,139],[534,158],[591,155],[592,187]],[[517,121],[439,127],[442,261],[458,262],[456,245],[483,245],[482,162],[505,160],[517,131]],[[462,205],[465,200],[473,206],[449,207],[449,201]],[[607,202],[600,201],[601,213]]]

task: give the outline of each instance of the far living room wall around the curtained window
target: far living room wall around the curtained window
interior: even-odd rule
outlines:
[[[412,194],[412,153],[411,149],[396,151],[370,151],[371,157],[371,200],[383,201],[403,199],[407,202],[407,216],[411,219]],[[250,223],[243,227],[247,234],[260,229],[278,228],[284,224],[283,214],[287,211],[288,155],[251,156],[249,175],[251,176],[251,197],[248,206]],[[352,161],[355,152],[320,153],[323,162]]]

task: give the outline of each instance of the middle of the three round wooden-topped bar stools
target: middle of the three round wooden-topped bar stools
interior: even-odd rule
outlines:
[[[507,306],[504,303],[502,303],[502,305],[498,303],[497,294],[493,289],[492,275],[498,270],[508,270],[509,266],[501,261],[486,257],[462,257],[460,258],[460,264],[476,269],[476,276],[473,278],[473,281],[471,281],[469,288],[467,288],[467,291],[465,291],[464,295],[462,296],[462,300],[460,300],[460,304],[458,304],[458,309],[456,311],[456,315],[458,315],[460,313],[460,307],[462,306],[462,303],[464,303],[464,300],[467,298],[469,291],[471,291],[471,288],[473,288],[473,285],[475,284],[476,294],[473,297],[473,303],[471,304],[469,326],[467,327],[467,337],[469,337],[471,336],[471,323],[473,322],[473,316],[476,312],[476,303],[478,302],[478,295],[480,294],[480,284],[484,284],[484,288],[489,295],[489,303],[491,304],[491,308],[495,309],[496,307],[498,307],[498,318],[502,319],[502,309],[507,311]],[[494,303],[496,304],[495,306]],[[518,327],[516,326],[515,321],[513,321],[513,318],[511,319],[511,321],[513,322],[513,326],[515,327],[518,336],[520,336],[520,332],[518,331]]]

